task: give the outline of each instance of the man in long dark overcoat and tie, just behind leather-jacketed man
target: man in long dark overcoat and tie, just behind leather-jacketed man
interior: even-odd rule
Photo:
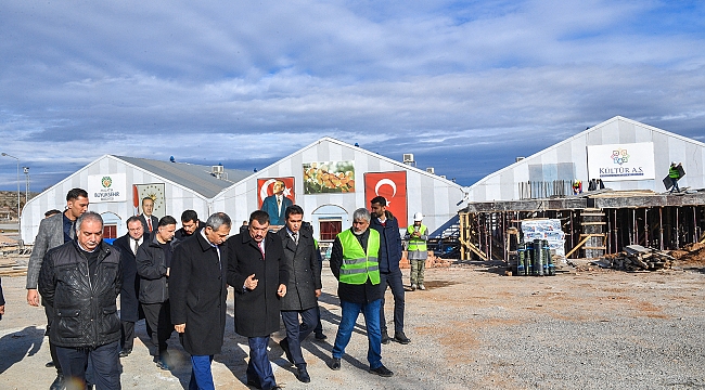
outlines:
[[[134,323],[140,320],[140,302],[137,296],[140,291],[140,277],[137,274],[134,256],[144,239],[142,222],[137,217],[127,219],[127,234],[113,242],[123,257],[123,288],[120,289],[120,322],[123,334],[120,338],[120,358],[132,352],[134,344]]]

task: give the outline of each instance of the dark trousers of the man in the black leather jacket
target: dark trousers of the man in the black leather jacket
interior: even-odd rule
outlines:
[[[92,366],[92,378],[97,390],[120,389],[119,341],[97,348],[56,347],[56,355],[64,372],[66,390],[86,388],[86,369]]]

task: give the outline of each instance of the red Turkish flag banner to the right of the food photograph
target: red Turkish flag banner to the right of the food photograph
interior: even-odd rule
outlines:
[[[364,173],[364,204],[375,196],[387,199],[387,210],[397,218],[399,227],[407,226],[407,171]]]

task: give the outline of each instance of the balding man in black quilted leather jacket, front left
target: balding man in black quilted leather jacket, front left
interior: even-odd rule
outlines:
[[[86,212],[76,239],[44,255],[39,292],[54,308],[49,333],[67,389],[84,389],[88,360],[101,389],[120,389],[120,318],[116,298],[123,284],[120,252],[103,243],[103,220]]]

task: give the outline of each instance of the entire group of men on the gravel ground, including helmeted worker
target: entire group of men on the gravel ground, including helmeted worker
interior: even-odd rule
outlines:
[[[153,200],[145,198],[144,212],[130,217],[128,233],[111,246],[102,240],[101,216],[87,211],[88,194],[74,188],[66,202],[64,212],[40,223],[27,273],[27,301],[38,306],[39,292],[47,314],[57,372],[52,389],[119,389],[119,358],[131,353],[134,323],[141,317],[159,368],[170,369],[167,340],[176,330],[191,354],[189,389],[215,388],[210,365],[223,342],[228,286],[234,288],[235,332],[248,338],[247,385],[279,388],[267,346],[279,330],[280,316],[286,337],[279,344],[296,377],[311,380],[300,343],[313,332],[318,339],[325,338],[318,308],[322,260],[299,206],[286,207],[284,226],[277,233],[269,232],[269,214],[257,210],[246,230],[230,236],[232,221],[223,212],[204,224],[195,211],[187,210],[177,231],[176,219],[157,220],[151,214]],[[329,366],[341,368],[362,312],[370,373],[389,377],[381,344],[410,342],[403,332],[401,236],[383,197],[372,199],[371,209],[356,210],[352,226],[333,244],[331,270],[338,280],[342,317]],[[407,231],[410,250],[412,242],[413,249],[422,249],[420,240],[427,232],[420,223]],[[384,320],[387,286],[395,300],[393,337]],[[422,276],[412,276],[414,287],[424,289]]]

